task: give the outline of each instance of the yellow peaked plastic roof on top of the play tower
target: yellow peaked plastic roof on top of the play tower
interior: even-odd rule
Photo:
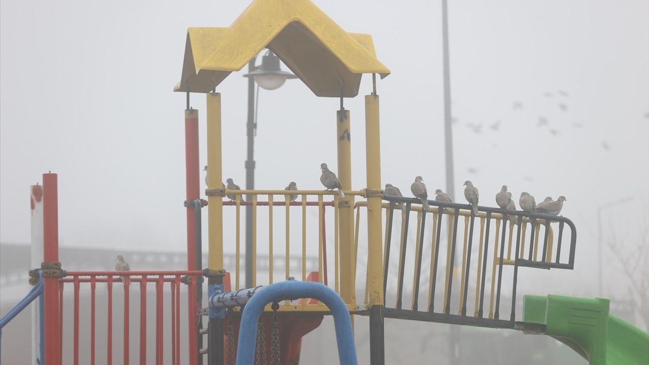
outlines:
[[[390,74],[372,36],[345,32],[310,0],[254,0],[227,28],[190,28],[174,91],[210,92],[268,48],[323,97],[358,95],[361,75]]]

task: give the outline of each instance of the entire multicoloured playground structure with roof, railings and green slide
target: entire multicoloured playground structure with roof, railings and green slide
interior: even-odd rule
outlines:
[[[340,99],[341,108],[336,111],[335,121],[332,118],[332,123],[336,123],[336,136],[332,140],[336,138],[337,172],[345,197],[323,190],[221,187],[224,177],[221,94],[216,90],[232,71],[243,68],[264,48],[273,51],[313,94]],[[354,190],[349,138],[351,113],[343,107],[343,102],[345,97],[358,95],[363,73],[373,78],[373,90],[365,95],[367,182],[364,188]],[[383,194],[377,74],[382,79],[390,71],[376,57],[371,36],[345,32],[308,0],[256,0],[230,27],[190,28],[182,77],[175,88],[177,92],[185,92],[188,101],[185,110],[187,270],[65,271],[58,260],[56,174],[47,173],[43,175],[42,187],[34,186],[32,192],[32,212],[42,209],[42,215],[36,214],[32,226],[36,231],[42,227],[43,263],[40,270],[31,273],[36,284],[34,290],[3,318],[2,326],[40,297],[41,363],[44,360],[47,365],[94,364],[95,348],[103,346],[95,340],[95,292],[105,288],[108,364],[113,360],[129,364],[133,318],[139,320],[139,360],[141,364],[147,362],[147,310],[151,308],[155,309],[156,364],[164,363],[165,359],[171,359],[172,364],[191,365],[205,361],[231,364],[234,360],[237,364],[265,363],[266,359],[271,364],[297,364],[302,336],[329,314],[335,317],[343,364],[356,364],[354,343],[350,340],[353,336],[350,315],[369,316],[371,364],[384,364],[384,318],[548,334],[568,344],[591,364],[649,362],[649,355],[643,354],[643,346],[649,346],[649,335],[609,316],[606,299],[526,296],[523,317],[517,319],[521,268],[574,268],[577,235],[569,219],[482,206],[478,207],[478,214],[472,214],[468,205],[437,201],[428,201],[431,208],[426,212],[419,199]],[[207,99],[210,185],[205,190],[206,201],[201,199],[200,192],[199,111],[190,108],[190,92],[204,93]],[[317,166],[319,161],[314,164]],[[297,201],[291,201],[291,194],[298,195]],[[225,201],[228,195],[235,199]],[[252,199],[243,201],[244,195],[251,195]],[[404,211],[398,208],[395,211],[397,203],[404,205]],[[208,268],[202,268],[200,260],[204,207],[208,211]],[[251,288],[241,284],[241,207],[252,207],[253,249],[246,253],[254,263]],[[269,231],[263,240],[258,239],[256,231],[261,220],[260,207],[267,212],[265,222]],[[284,213],[282,228],[286,241],[283,252],[277,253],[278,242],[273,241],[273,231],[277,231],[275,222],[279,220],[274,221],[273,217],[280,210]],[[317,220],[309,218],[308,212],[312,210],[317,210]],[[299,227],[291,224],[291,216],[296,212],[301,218]],[[223,223],[228,215],[234,216],[232,226]],[[361,227],[361,215],[366,217],[367,227]],[[512,225],[509,216],[515,216],[520,223]],[[414,233],[410,222],[413,217],[417,222]],[[333,237],[326,235],[327,224],[334,227]],[[314,225],[317,225],[316,232],[310,229]],[[432,227],[430,240],[426,239],[427,225]],[[297,268],[289,264],[291,250],[295,248],[291,245],[294,231],[299,231],[302,238],[302,262]],[[224,236],[234,240],[226,242]],[[367,237],[367,256],[359,257],[359,245],[365,244],[359,242],[363,236]],[[256,271],[260,264],[257,247],[262,242],[267,242],[269,250],[267,281],[258,277]],[[333,246],[333,262],[327,260],[330,251],[327,244]],[[229,266],[223,260],[226,245],[234,246],[236,257]],[[423,255],[427,245],[430,258]],[[318,270],[308,272],[306,257],[313,252]],[[359,288],[356,277],[360,260],[367,262],[365,280],[361,282],[364,288]],[[395,260],[397,270],[390,266]],[[430,270],[422,273],[427,263]],[[298,280],[273,283],[275,271],[280,271],[286,279]],[[330,281],[330,277],[334,280]],[[422,281],[422,277],[426,280]],[[424,296],[420,292],[426,284],[428,292]],[[71,331],[66,331],[63,325],[62,293],[66,286],[72,286],[74,292]],[[82,287],[88,286],[91,316],[84,319],[79,316],[80,293]],[[154,286],[156,292],[154,307],[147,306],[149,286]],[[404,297],[404,288],[408,286],[412,295]],[[139,318],[137,312],[130,312],[131,287],[140,290]],[[510,289],[511,303],[501,303],[501,292]],[[113,334],[112,323],[117,314],[112,296],[118,290],[123,297],[123,307],[119,310],[123,333]],[[362,299],[356,297],[357,292],[364,292]],[[208,307],[203,308],[205,301]],[[504,314],[504,310],[508,312]],[[87,332],[82,327],[90,327],[88,341],[81,334]],[[119,360],[113,359],[114,336],[121,336]],[[69,358],[64,357],[63,351],[64,342],[68,341],[72,342]],[[90,347],[90,359],[79,358],[80,346]]]

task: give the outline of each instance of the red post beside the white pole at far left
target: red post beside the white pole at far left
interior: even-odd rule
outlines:
[[[43,261],[58,262],[58,181],[56,173],[43,173]],[[45,277],[45,359],[61,364],[58,278]]]

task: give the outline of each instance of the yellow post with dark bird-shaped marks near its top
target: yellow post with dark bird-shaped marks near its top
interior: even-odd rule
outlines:
[[[338,155],[338,180],[343,191],[352,190],[352,151],[350,138],[350,112],[337,110],[336,112],[336,141]],[[345,303],[352,303],[355,290],[355,273],[352,273],[352,258],[354,255],[354,242],[352,231],[352,209],[354,209],[354,196],[347,195],[338,202],[338,245],[339,271],[340,271],[340,296]]]

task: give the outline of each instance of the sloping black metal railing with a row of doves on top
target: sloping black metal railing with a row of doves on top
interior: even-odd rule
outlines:
[[[386,316],[395,318],[410,318],[413,320],[426,321],[445,321],[448,323],[465,323],[472,325],[484,325],[487,327],[509,327],[515,325],[516,312],[516,290],[518,283],[518,271],[520,267],[542,268],[550,270],[553,268],[570,269],[574,267],[574,253],[576,246],[576,229],[572,221],[563,216],[550,216],[548,214],[528,213],[520,210],[503,210],[492,207],[478,207],[478,215],[471,212],[471,206],[458,203],[445,203],[440,201],[428,201],[430,211],[422,210],[421,201],[415,198],[396,197],[386,195],[384,200],[389,203],[384,204],[387,210],[386,224],[387,236],[385,242],[385,261],[384,261],[384,293],[386,297]],[[390,269],[390,254],[393,249],[393,226],[395,225],[395,206],[397,203],[404,205],[402,212],[402,227],[400,242],[398,247],[398,269],[396,295],[390,293],[388,286],[389,280],[394,279],[394,270]],[[408,236],[410,232],[411,212],[417,212],[417,231],[415,231],[415,250],[414,262],[406,262],[407,254],[411,248],[408,247]],[[396,210],[397,214],[400,210]],[[441,213],[441,214],[440,214]],[[426,217],[432,214],[432,230],[426,232]],[[446,274],[443,272],[438,275],[441,263],[439,262],[439,253],[441,236],[443,233],[443,217],[448,217],[447,229],[447,264]],[[456,264],[456,251],[458,239],[461,233],[458,232],[459,218],[464,217],[463,229],[463,249],[461,264]],[[475,234],[474,224],[476,219],[480,220],[480,233]],[[493,227],[495,225],[495,227]],[[562,247],[565,226],[570,228],[570,242],[568,255],[565,255],[565,247]],[[501,227],[502,226],[502,227]],[[529,227],[529,233],[528,231]],[[543,233],[541,229],[543,228]],[[554,231],[558,229],[558,234]],[[431,260],[430,275],[428,276],[429,293],[428,305],[426,310],[419,310],[419,290],[421,283],[422,271],[422,253],[426,245],[426,233],[432,236],[431,240]],[[493,240],[490,242],[490,233],[493,234]],[[556,236],[556,237],[555,237]],[[555,239],[556,238],[556,239]],[[475,255],[478,258],[472,265],[472,255],[474,245],[479,241],[479,248]],[[529,247],[525,247],[526,241]],[[493,242],[493,243],[492,243]],[[514,247],[512,244],[515,242]],[[411,244],[412,245],[412,244]],[[508,246],[507,253],[505,246]],[[554,247],[556,246],[556,252]],[[541,255],[539,258],[539,248]],[[563,252],[562,252],[563,248]],[[512,249],[514,256],[511,258]],[[491,292],[485,294],[485,282],[487,281],[487,265],[489,263],[489,254],[493,252],[491,259]],[[410,309],[404,309],[404,277],[406,276],[406,266],[413,266],[413,292]],[[513,267],[511,275],[511,314],[509,321],[500,320],[500,297],[501,290],[505,287],[503,270],[506,266]],[[454,273],[459,269],[459,294],[454,294]],[[497,269],[497,273],[496,273]],[[467,316],[467,300],[469,298],[470,277],[476,278],[475,296],[474,296],[474,313]],[[435,311],[435,290],[438,286],[440,275],[444,276],[444,298],[442,301],[441,312]],[[441,283],[439,283],[441,284]],[[457,297],[458,301],[453,301],[452,297]],[[485,305],[484,301],[489,296],[489,315],[484,318]],[[388,305],[388,301],[394,300],[394,307]],[[495,303],[494,303],[495,301]],[[454,308],[457,306],[457,308]],[[452,314],[453,310],[458,310],[458,314]]]

